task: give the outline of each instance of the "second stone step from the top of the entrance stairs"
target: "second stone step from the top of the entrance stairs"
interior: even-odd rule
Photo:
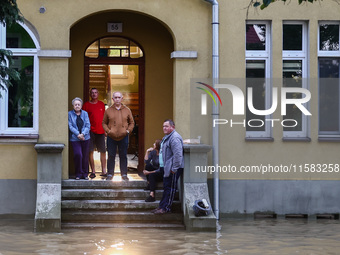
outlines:
[[[144,200],[150,194],[149,190],[142,189],[63,189],[61,196],[63,200],[83,199],[137,199]],[[156,199],[162,198],[163,190],[156,190]],[[178,199],[178,192],[175,197]]]

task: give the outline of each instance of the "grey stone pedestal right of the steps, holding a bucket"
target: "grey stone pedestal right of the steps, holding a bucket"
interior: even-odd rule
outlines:
[[[193,210],[196,200],[205,199],[211,205],[206,172],[211,148],[206,144],[184,144],[181,199],[184,224],[188,231],[216,231],[216,217],[212,210],[208,216],[200,217],[196,217]]]

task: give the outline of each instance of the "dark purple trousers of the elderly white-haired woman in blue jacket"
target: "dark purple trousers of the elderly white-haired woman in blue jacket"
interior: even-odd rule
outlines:
[[[90,140],[71,141],[76,177],[85,178],[89,174]]]

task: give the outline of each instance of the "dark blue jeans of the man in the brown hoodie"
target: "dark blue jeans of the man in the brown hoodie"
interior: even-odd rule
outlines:
[[[127,176],[127,148],[129,144],[129,136],[125,136],[122,140],[116,141],[107,137],[107,173],[114,175],[116,165],[116,153],[118,147],[120,174]]]

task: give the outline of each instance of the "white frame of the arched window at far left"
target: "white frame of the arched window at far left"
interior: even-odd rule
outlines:
[[[8,89],[1,90],[0,138],[32,137],[39,132],[39,58],[40,44],[24,23],[17,23],[29,34],[36,48],[6,48],[6,25],[0,25],[0,48],[12,51],[14,57],[33,57],[33,124],[32,127],[8,127]],[[7,63],[8,65],[8,63]]]

